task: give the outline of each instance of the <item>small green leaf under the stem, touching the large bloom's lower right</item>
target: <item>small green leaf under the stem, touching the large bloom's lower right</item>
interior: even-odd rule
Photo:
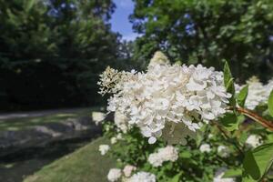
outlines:
[[[238,116],[235,113],[226,113],[219,121],[228,131],[238,129]]]

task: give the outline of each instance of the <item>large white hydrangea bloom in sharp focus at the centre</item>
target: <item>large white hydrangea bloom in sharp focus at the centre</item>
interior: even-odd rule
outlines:
[[[115,94],[107,110],[124,114],[125,126],[138,126],[150,144],[162,134],[171,143],[180,140],[185,144],[185,138],[202,126],[201,121],[208,123],[226,112],[230,95],[223,73],[213,67],[155,64],[147,73],[122,72],[119,82],[117,72],[112,72],[115,74],[103,74],[100,82],[110,90],[111,77],[104,76],[115,76],[116,86],[110,92]],[[185,132],[175,132],[177,127]]]

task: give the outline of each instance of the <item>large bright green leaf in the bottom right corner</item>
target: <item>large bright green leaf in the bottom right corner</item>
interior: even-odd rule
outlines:
[[[249,150],[244,158],[244,181],[259,180],[273,163],[273,143]]]

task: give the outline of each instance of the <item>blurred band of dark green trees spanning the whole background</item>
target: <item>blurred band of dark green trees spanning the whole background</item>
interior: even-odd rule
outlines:
[[[106,66],[145,69],[157,50],[173,62],[220,69],[238,82],[272,77],[273,1],[133,0],[140,37],[121,41],[111,0],[0,0],[0,108],[97,106]]]

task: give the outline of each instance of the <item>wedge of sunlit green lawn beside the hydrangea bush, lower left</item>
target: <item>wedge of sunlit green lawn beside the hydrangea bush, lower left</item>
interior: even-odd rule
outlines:
[[[109,168],[116,163],[110,157],[101,156],[98,146],[108,143],[106,137],[100,137],[26,177],[24,182],[106,182]]]

